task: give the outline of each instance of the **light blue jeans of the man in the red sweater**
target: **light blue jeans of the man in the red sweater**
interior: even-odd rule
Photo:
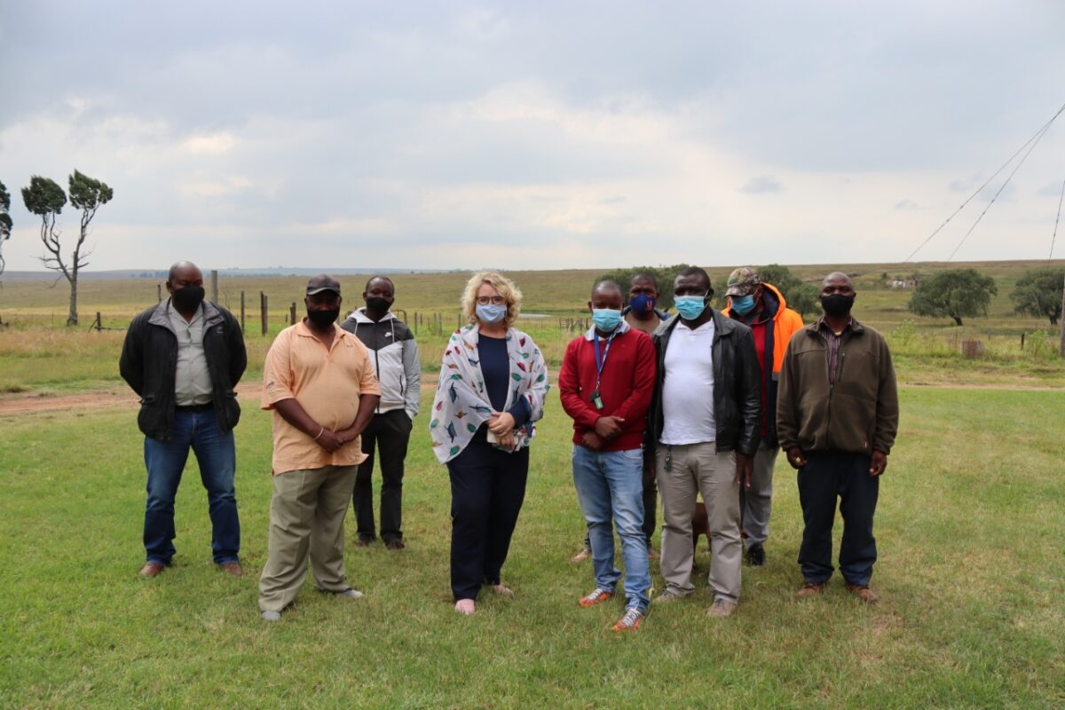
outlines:
[[[593,451],[573,446],[573,484],[588,524],[595,585],[613,592],[621,572],[613,565],[613,530],[625,561],[625,607],[648,608],[651,569],[643,534],[643,452]]]

